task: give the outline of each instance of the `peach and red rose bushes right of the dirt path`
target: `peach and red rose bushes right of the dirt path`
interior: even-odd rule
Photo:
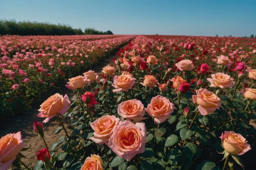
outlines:
[[[247,40],[136,37],[114,66],[70,78],[71,99],[56,93],[40,105],[44,120],[33,126],[45,148],[35,170],[224,170],[241,159],[252,168],[255,43]],[[49,147],[43,132],[54,117],[65,135]],[[31,169],[22,143],[20,132],[0,139],[3,170]]]

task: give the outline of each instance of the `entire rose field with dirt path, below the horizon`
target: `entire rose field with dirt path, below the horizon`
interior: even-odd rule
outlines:
[[[254,170],[256,40],[3,35],[0,124],[0,170]]]

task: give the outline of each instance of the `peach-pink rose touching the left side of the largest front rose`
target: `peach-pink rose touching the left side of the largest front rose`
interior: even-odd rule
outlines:
[[[90,137],[92,141],[99,145],[107,144],[108,139],[112,135],[113,128],[119,124],[119,118],[114,115],[103,116],[90,124],[94,130],[94,137]]]

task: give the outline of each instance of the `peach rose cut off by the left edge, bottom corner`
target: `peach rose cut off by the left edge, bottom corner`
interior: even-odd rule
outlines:
[[[0,139],[0,170],[7,170],[23,148],[21,133],[9,133]]]

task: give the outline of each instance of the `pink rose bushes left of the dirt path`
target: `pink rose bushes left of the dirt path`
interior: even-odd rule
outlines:
[[[27,110],[40,94],[60,86],[128,43],[133,36],[0,37],[0,115]],[[87,41],[92,38],[100,40]],[[22,109],[21,109],[22,108]]]

